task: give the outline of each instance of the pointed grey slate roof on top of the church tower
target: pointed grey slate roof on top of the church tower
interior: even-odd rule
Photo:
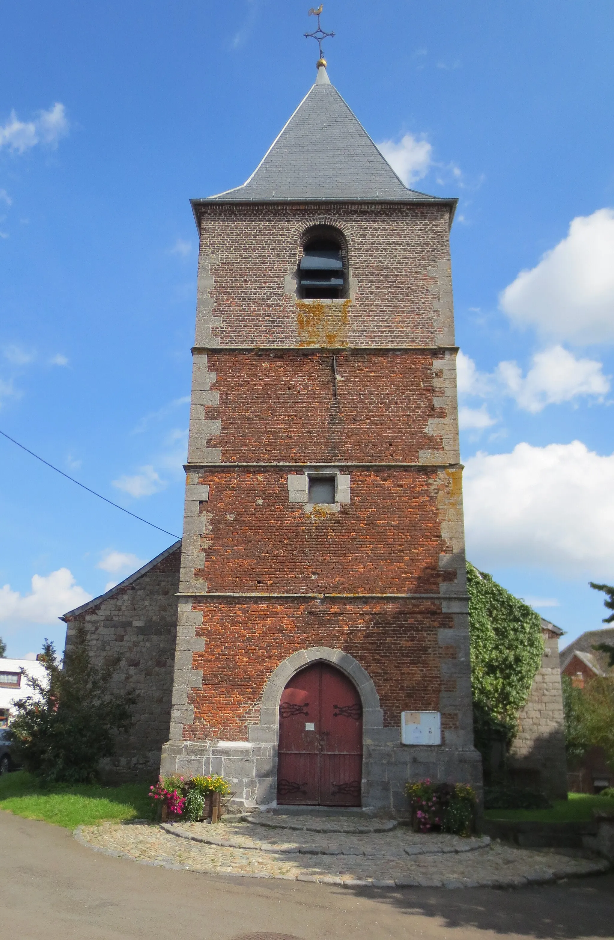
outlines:
[[[243,186],[208,202],[359,201],[443,203],[408,189],[331,85],[323,66],[290,120]]]

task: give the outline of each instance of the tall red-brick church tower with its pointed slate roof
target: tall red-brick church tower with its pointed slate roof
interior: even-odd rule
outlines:
[[[197,326],[162,772],[242,806],[480,785],[449,227],[318,63],[243,186],[192,201]]]

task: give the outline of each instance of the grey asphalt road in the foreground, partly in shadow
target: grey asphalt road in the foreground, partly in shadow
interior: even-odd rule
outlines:
[[[201,875],[98,854],[0,811],[0,936],[329,940],[614,936],[614,875],[496,891],[355,889]]]

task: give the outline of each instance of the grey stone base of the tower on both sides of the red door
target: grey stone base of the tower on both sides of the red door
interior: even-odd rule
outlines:
[[[368,737],[363,757],[362,799],[365,809],[407,811],[405,784],[429,778],[468,783],[481,795],[480,754],[473,747],[419,747],[399,744],[401,729],[381,729],[378,741]],[[385,740],[387,739],[387,740]],[[276,744],[252,742],[168,742],[162,751],[164,776],[224,776],[237,809],[276,807]]]

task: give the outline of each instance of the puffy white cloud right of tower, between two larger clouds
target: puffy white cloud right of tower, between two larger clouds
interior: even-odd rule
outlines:
[[[582,396],[603,400],[610,381],[602,368],[595,359],[576,359],[562,346],[552,346],[533,356],[526,376],[514,360],[500,362],[494,372],[487,373],[480,372],[473,359],[459,352],[459,396],[489,400],[497,395],[509,396],[519,408],[536,415],[546,405],[561,404]],[[473,427],[479,426],[474,424]]]

